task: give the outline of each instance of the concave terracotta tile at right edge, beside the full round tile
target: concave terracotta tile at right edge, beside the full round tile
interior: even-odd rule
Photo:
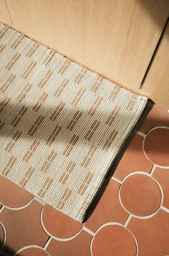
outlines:
[[[161,169],[156,167],[153,173],[155,180],[158,180],[163,189],[163,206],[169,209],[169,169]]]

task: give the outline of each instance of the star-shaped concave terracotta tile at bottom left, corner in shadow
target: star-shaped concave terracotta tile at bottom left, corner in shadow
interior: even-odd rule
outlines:
[[[40,223],[42,206],[33,201],[29,206],[20,210],[3,209],[0,221],[6,229],[5,252],[17,252],[27,245],[44,247],[49,237],[44,233]]]

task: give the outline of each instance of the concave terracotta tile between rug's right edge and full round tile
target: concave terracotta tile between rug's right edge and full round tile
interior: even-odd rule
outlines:
[[[115,221],[125,224],[128,214],[120,204],[118,197],[119,188],[120,183],[117,183],[115,180],[110,180],[95,211],[85,222],[85,227],[95,232],[106,222]]]

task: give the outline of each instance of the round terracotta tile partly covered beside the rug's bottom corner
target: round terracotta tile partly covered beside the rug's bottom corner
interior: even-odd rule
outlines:
[[[60,239],[73,237],[82,229],[83,225],[57,211],[49,204],[46,204],[42,211],[42,224],[50,235]]]

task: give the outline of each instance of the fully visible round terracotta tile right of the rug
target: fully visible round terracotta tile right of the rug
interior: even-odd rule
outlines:
[[[158,183],[143,173],[128,176],[120,187],[120,201],[135,216],[149,216],[160,207],[162,195]]]

